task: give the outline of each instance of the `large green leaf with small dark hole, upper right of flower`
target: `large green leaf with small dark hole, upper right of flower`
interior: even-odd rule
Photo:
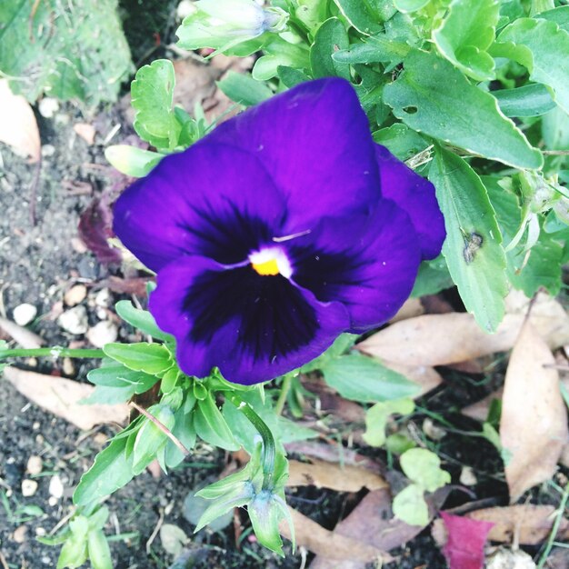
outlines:
[[[414,50],[404,73],[384,87],[394,115],[424,132],[490,160],[520,168],[539,168],[541,153],[498,108],[492,95],[470,85],[452,64]]]

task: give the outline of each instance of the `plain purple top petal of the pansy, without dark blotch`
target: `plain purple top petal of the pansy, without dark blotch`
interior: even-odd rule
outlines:
[[[380,198],[367,117],[344,79],[297,85],[206,138],[258,156],[287,196],[290,234],[313,228],[324,212],[367,211]]]

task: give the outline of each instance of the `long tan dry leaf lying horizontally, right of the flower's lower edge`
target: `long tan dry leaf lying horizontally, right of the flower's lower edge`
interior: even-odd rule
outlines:
[[[524,318],[506,314],[496,333],[486,334],[472,314],[424,314],[387,326],[355,347],[387,362],[455,364],[512,349]],[[569,316],[554,299],[541,297],[530,321],[551,348],[569,342]]]

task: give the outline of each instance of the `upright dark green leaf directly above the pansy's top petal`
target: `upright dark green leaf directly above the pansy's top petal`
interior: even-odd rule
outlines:
[[[330,18],[318,28],[314,44],[310,48],[310,66],[314,79],[337,75],[350,80],[350,66],[332,58],[334,52],[350,45],[344,24],[338,18]]]

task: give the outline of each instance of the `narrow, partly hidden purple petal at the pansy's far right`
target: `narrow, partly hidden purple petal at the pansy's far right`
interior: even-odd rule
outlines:
[[[434,259],[441,253],[444,218],[434,195],[434,185],[425,180],[387,148],[375,145],[382,195],[391,199],[411,217],[419,235],[423,259]]]

